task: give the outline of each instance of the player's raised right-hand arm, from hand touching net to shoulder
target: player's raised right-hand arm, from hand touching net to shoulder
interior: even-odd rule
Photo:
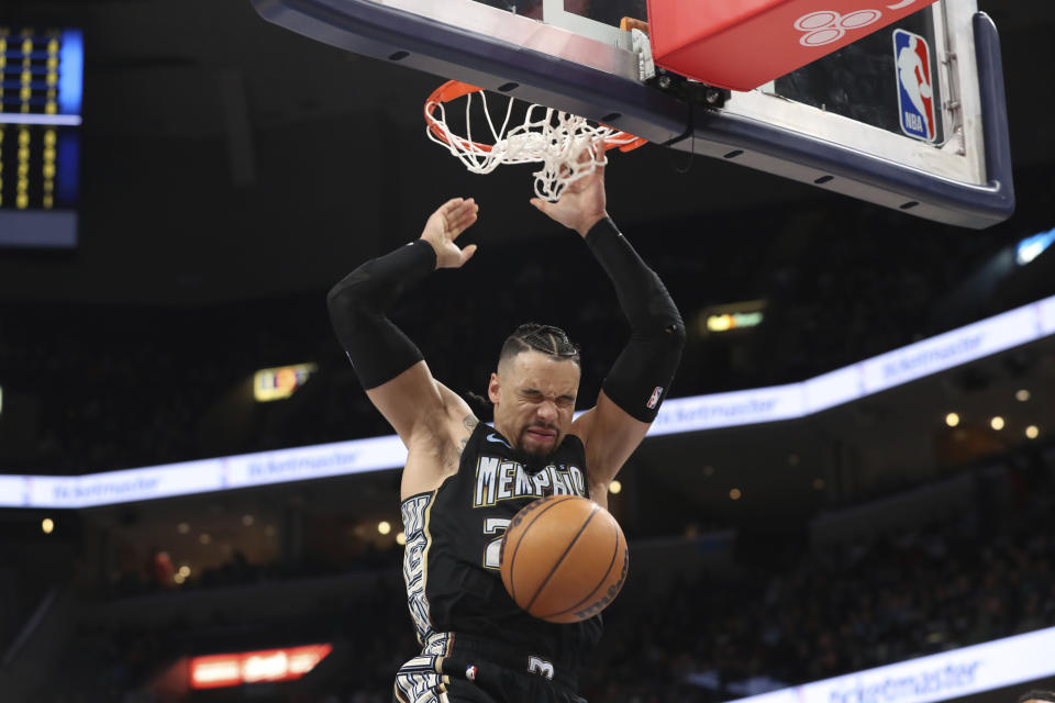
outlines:
[[[556,203],[531,202],[586,241],[630,321],[630,341],[606,377],[597,405],[571,431],[586,445],[590,493],[597,499],[606,495],[656,419],[681,359],[685,323],[663,281],[608,216],[603,168],[571,183]]]

